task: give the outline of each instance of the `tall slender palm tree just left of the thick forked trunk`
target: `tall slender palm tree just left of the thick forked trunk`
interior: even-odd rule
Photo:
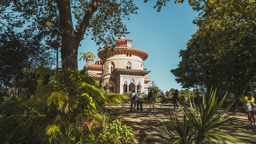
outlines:
[[[51,9],[50,11],[55,18],[49,22],[46,21],[44,24],[40,25],[40,30],[42,30],[42,32],[40,32],[37,35],[37,40],[39,42],[43,41],[44,39],[47,38],[51,38],[50,40],[46,40],[46,44],[50,45],[53,49],[56,49],[56,60],[57,60],[57,65],[56,67],[59,67],[59,47],[61,47],[61,33],[59,31],[59,12],[57,9]],[[52,41],[52,39],[54,39]]]

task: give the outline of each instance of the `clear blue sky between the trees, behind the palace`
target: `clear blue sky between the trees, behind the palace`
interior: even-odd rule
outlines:
[[[175,81],[171,69],[177,68],[181,61],[179,52],[186,49],[186,43],[195,33],[198,27],[192,23],[199,12],[196,12],[185,1],[183,4],[174,4],[169,1],[166,6],[157,12],[153,6],[156,1],[134,1],[139,7],[138,14],[132,14],[130,20],[126,20],[129,34],[126,39],[131,39],[132,47],[143,49],[148,53],[148,58],[144,61],[144,68],[151,71],[147,78],[152,78],[163,92],[171,88],[180,90],[182,86]],[[117,38],[116,38],[117,39]],[[81,41],[78,54],[81,52],[92,52],[98,60],[95,42],[88,37]],[[79,59],[81,56],[78,55]],[[94,62],[95,62],[94,61]],[[93,62],[93,63],[94,63]],[[78,69],[83,69],[86,62],[78,61]],[[151,86],[151,82],[148,83]]]

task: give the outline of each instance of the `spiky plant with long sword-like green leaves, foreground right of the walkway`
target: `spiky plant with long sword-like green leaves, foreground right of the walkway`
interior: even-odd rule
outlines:
[[[234,113],[231,113],[228,115],[225,114],[225,112],[230,109],[230,107],[232,105],[232,104],[230,104],[220,114],[218,114],[218,115],[216,114],[218,109],[222,106],[223,102],[225,101],[226,96],[227,96],[227,93],[223,97],[221,102],[216,106],[217,98],[218,98],[218,96],[216,96],[216,90],[212,91],[212,89],[211,89],[211,93],[207,99],[206,99],[205,93],[203,92],[203,104],[201,106],[200,96],[197,91],[199,110],[197,110],[197,107],[195,105],[193,107],[190,102],[191,111],[189,111],[188,108],[182,103],[182,105],[184,107],[184,109],[183,109],[182,105],[179,102],[177,102],[179,104],[182,112],[184,113],[184,117],[187,117],[192,123],[191,125],[189,123],[186,123],[186,124],[185,123],[183,123],[183,124],[177,123],[177,124],[179,124],[178,127],[183,127],[183,133],[184,133],[184,131],[186,133],[187,133],[187,131],[195,131],[195,132],[190,132],[190,133],[187,133],[186,135],[180,135],[182,137],[177,136],[177,139],[175,142],[181,141],[182,139],[185,138],[185,136],[190,136],[190,138],[194,136],[194,139],[191,139],[191,141],[193,140],[193,142],[192,142],[193,144],[202,144],[203,141],[207,141],[207,143],[211,143],[211,144],[216,143],[216,142],[226,143],[224,140],[230,141],[233,143],[248,144],[247,142],[239,140],[239,139],[252,139],[252,138],[245,138],[245,137],[241,137],[241,136],[231,136],[228,134],[228,131],[224,131],[224,130],[220,129],[221,127],[242,127],[242,126],[244,126],[244,125],[222,126],[223,124],[228,122],[233,117],[233,115],[235,115],[237,113],[237,112],[234,112]],[[193,99],[193,103],[194,103],[194,99]],[[215,114],[216,114],[216,116],[214,117]],[[173,120],[174,119],[171,118],[171,121],[173,121]],[[189,129],[187,126],[189,126]],[[186,130],[185,130],[185,127],[186,127]],[[180,130],[177,131],[177,133],[179,133],[179,132],[180,132]],[[241,134],[239,134],[239,135],[241,135]],[[164,138],[164,139],[166,139],[166,138]],[[174,137],[171,136],[171,138],[168,138],[166,140],[167,141],[174,140]],[[175,143],[175,142],[173,142],[173,143]],[[187,141],[187,143],[188,143],[188,141]]]

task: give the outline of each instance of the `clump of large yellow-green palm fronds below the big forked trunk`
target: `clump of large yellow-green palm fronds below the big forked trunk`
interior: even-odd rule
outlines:
[[[8,135],[7,143],[13,135],[33,134],[36,140],[46,138],[54,141],[62,125],[72,124],[79,117],[90,115],[101,119],[96,111],[101,111],[103,104],[115,105],[128,99],[124,95],[103,94],[94,87],[94,80],[88,76],[86,70],[79,73],[72,70],[58,68],[37,68],[34,70],[40,76],[53,77],[53,83],[41,86],[31,99],[17,100],[10,103],[11,108],[19,107],[22,115],[13,115],[19,126]],[[49,137],[49,135],[52,135]],[[55,139],[56,141],[56,139]]]

